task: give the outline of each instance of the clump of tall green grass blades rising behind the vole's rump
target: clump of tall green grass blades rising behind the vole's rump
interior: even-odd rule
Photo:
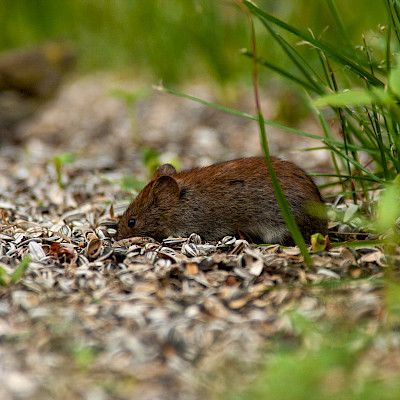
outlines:
[[[310,98],[318,98],[313,103],[316,106],[313,111],[324,132],[322,142],[332,154],[338,182],[355,202],[360,197],[357,193],[362,193],[362,200],[368,200],[370,189],[400,172],[397,106],[400,70],[393,55],[400,45],[398,3],[380,2],[382,10],[386,11],[386,25],[382,24],[374,34],[366,26],[369,34],[363,35],[357,46],[348,39],[334,0],[326,4],[341,31],[340,45],[318,38],[310,29],[287,24],[253,2],[244,0],[243,3],[297,72],[289,73],[261,57],[257,62],[299,86]],[[319,60],[317,68],[300,53],[299,41],[309,48],[310,57],[315,53]],[[251,51],[245,54],[252,57]],[[326,114],[320,111],[324,107],[330,107],[331,117],[333,115],[340,126],[340,145],[332,143],[337,136]]]

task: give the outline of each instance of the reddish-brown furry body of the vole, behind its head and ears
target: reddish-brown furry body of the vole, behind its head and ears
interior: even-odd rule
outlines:
[[[325,233],[326,221],[306,210],[311,203],[321,203],[313,181],[288,161],[274,158],[273,166],[306,240],[314,232]],[[228,161],[173,177],[181,190],[173,215],[176,234],[197,232],[207,240],[239,234],[255,242],[292,242],[262,158]]]

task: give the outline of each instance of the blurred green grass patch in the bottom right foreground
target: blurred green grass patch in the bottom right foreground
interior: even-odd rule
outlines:
[[[330,296],[338,296],[328,288],[323,293],[326,304]],[[398,340],[398,284],[391,285],[391,294],[386,296],[387,315],[381,322],[379,317],[355,321],[345,315],[316,321],[288,311],[296,339],[276,338],[269,343],[255,379],[242,391],[234,388],[225,399],[399,399],[398,353],[392,351]]]

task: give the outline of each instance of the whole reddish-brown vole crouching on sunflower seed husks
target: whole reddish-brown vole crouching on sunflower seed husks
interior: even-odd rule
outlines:
[[[272,164],[305,239],[325,234],[326,220],[307,211],[322,204],[312,179],[289,161],[272,158]],[[161,241],[193,232],[206,241],[231,235],[255,243],[293,243],[262,157],[183,172],[170,164],[160,166],[121,216],[117,239],[150,236]]]

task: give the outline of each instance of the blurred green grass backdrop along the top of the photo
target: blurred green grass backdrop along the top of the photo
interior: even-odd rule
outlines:
[[[299,28],[337,40],[328,0],[256,3]],[[386,23],[383,0],[337,0],[336,5],[355,44],[362,43],[366,27]],[[167,83],[249,79],[249,61],[239,52],[248,46],[248,21],[233,0],[2,0],[0,25],[0,50],[67,41],[77,51],[81,71],[128,69],[133,77]],[[265,30],[259,32],[260,54],[279,64],[280,53]]]

